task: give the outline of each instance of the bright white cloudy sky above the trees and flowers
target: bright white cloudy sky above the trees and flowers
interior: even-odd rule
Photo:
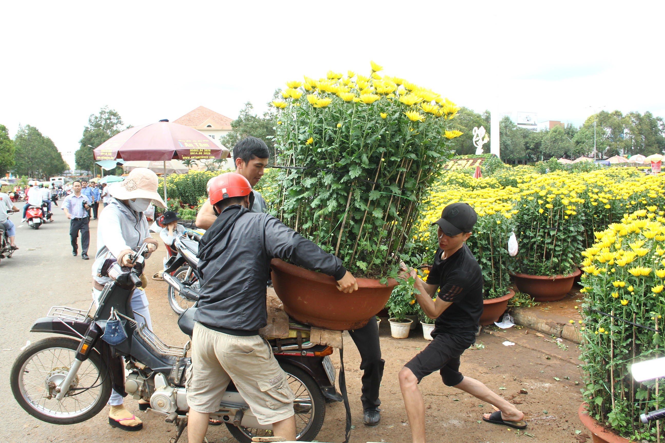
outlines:
[[[0,124],[36,126],[71,163],[102,106],[134,126],[198,106],[235,118],[286,80],[369,60],[479,112],[665,117],[662,1],[0,5]]]

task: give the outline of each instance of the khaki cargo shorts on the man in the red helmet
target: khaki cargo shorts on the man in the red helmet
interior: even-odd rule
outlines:
[[[231,380],[260,424],[293,416],[295,396],[268,343],[259,335],[229,335],[196,323],[187,376],[190,408],[217,412]]]

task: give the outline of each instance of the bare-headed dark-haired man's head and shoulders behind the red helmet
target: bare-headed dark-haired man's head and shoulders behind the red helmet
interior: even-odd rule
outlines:
[[[263,177],[269,156],[270,152],[265,141],[257,137],[246,137],[235,143],[233,147],[235,172],[245,177],[249,184],[254,187]],[[261,197],[261,193],[253,189],[252,193],[254,194],[254,200],[249,211],[253,213],[265,212],[265,200]],[[217,215],[213,211],[213,205],[207,200],[196,215],[196,226],[207,229],[212,226],[216,219]]]

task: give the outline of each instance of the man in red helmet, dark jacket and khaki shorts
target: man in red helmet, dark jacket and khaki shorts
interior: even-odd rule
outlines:
[[[338,290],[358,289],[342,260],[327,254],[278,219],[253,213],[249,181],[224,173],[209,183],[215,222],[201,238],[201,289],[194,319],[192,369],[187,381],[190,443],[201,443],[226,387],[233,380],[260,424],[295,441],[294,396],[271,347],[259,336],[267,325],[270,260],[283,258],[333,276]]]

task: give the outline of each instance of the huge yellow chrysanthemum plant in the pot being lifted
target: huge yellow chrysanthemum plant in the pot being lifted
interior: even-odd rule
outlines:
[[[273,214],[354,274],[393,274],[393,254],[408,255],[420,205],[462,135],[450,126],[460,108],[374,62],[367,75],[329,71],[287,86],[273,102]]]

